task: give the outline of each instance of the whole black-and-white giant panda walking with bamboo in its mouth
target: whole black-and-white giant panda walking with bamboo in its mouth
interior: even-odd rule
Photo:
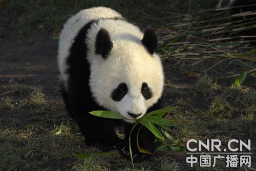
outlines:
[[[147,112],[162,108],[164,73],[156,48],[153,29],[143,33],[110,8],[81,10],[68,19],[59,36],[59,77],[68,114],[88,146],[118,148],[130,158],[132,126]],[[89,114],[96,110],[117,111],[125,119]],[[131,135],[135,162],[150,157],[138,151],[139,127]],[[117,136],[118,130],[124,138]],[[154,135],[144,127],[139,145],[151,153],[156,148]]]

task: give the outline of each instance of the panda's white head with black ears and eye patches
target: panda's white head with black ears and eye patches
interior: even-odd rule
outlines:
[[[157,37],[150,28],[139,41],[112,41],[108,31],[98,31],[90,87],[99,105],[133,123],[158,101],[164,75],[156,47]]]

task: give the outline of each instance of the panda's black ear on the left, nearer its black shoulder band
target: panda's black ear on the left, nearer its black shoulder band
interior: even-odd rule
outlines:
[[[102,55],[104,59],[108,57],[108,54],[110,54],[110,51],[113,47],[113,42],[110,39],[109,32],[105,29],[101,28],[96,36],[96,54]]]

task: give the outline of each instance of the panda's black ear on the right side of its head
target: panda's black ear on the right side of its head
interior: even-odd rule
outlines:
[[[144,36],[141,40],[142,45],[146,48],[148,53],[153,55],[156,52],[157,49],[157,36],[155,31],[148,27],[144,31]]]

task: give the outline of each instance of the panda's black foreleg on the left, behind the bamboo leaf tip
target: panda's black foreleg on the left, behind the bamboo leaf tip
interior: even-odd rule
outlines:
[[[95,109],[88,109],[83,102],[72,101],[65,94],[63,97],[69,115],[78,124],[88,146],[98,147],[102,151],[111,151],[122,141],[115,132],[118,121],[90,115],[88,111]]]

